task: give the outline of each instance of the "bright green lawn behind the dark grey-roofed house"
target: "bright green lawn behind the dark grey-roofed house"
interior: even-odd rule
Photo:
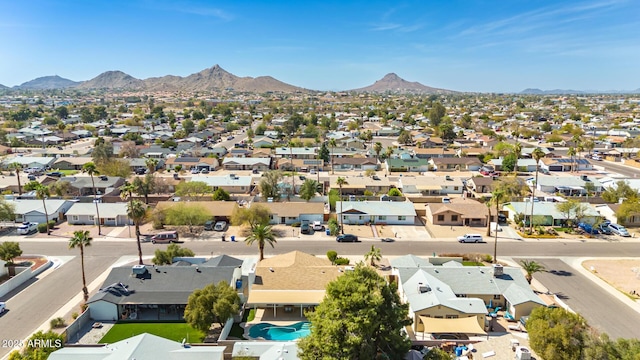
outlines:
[[[204,333],[186,323],[127,322],[115,324],[99,343],[113,344],[142,333],[149,333],[178,342],[186,338],[187,342],[190,343],[201,343],[205,337]]]

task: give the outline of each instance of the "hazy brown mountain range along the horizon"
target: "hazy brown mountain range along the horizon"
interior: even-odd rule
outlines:
[[[6,87],[0,87],[5,89]],[[191,74],[187,77],[166,75],[162,77],[152,77],[148,79],[136,79],[122,71],[107,71],[95,78],[87,81],[75,82],[59,76],[40,77],[18,86],[15,90],[27,89],[126,89],[126,90],[146,90],[146,91],[211,91],[233,89],[239,92],[304,92],[310,91],[301,87],[284,83],[271,76],[239,77],[233,75],[219,65]],[[8,89],[8,88],[6,88]],[[374,84],[348,90],[353,92],[374,92],[374,93],[420,93],[420,94],[440,94],[453,93],[450,90],[436,89],[422,85],[418,82],[409,82],[394,73],[385,75]]]

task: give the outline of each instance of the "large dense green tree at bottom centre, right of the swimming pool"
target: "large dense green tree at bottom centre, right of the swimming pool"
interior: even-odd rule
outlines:
[[[307,313],[311,334],[300,339],[302,360],[404,359],[411,347],[405,327],[409,306],[395,283],[357,265],[327,285],[325,298]],[[379,357],[382,356],[382,357]]]

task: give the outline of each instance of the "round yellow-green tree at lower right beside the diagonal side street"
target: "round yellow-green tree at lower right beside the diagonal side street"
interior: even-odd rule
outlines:
[[[589,327],[582,316],[563,308],[535,308],[527,320],[529,343],[543,359],[582,359]]]

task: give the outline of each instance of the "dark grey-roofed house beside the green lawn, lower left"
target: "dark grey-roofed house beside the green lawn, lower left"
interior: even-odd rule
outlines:
[[[87,304],[95,321],[182,320],[194,290],[224,281],[242,292],[242,280],[238,265],[120,266],[111,269]]]

